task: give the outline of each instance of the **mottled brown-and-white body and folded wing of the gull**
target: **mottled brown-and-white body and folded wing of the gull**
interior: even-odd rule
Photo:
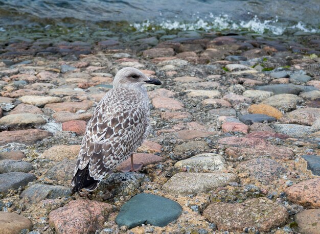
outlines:
[[[90,176],[101,180],[142,144],[149,109],[134,99],[139,97],[132,96],[130,105],[107,105],[106,97],[98,104],[83,137],[75,174],[89,163]]]

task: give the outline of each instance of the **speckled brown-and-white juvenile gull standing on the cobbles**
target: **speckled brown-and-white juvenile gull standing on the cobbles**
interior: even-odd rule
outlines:
[[[132,67],[117,73],[113,88],[101,99],[87,124],[71,182],[74,192],[95,190],[104,176],[128,157],[128,171],[142,167],[133,164],[132,154],[147,137],[150,124],[145,83],[161,85]]]

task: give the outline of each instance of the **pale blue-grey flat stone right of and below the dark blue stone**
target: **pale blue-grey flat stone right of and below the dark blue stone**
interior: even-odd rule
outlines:
[[[275,128],[276,132],[280,132],[292,137],[304,137],[314,131],[312,127],[298,124],[275,124],[273,127]]]

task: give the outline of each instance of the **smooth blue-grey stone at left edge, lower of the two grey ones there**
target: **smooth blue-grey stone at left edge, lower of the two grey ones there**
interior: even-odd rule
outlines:
[[[36,176],[24,172],[8,172],[0,174],[0,193],[9,189],[18,189],[19,186],[26,186],[36,179]]]

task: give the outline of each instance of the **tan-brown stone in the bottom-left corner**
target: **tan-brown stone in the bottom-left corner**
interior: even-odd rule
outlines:
[[[20,234],[22,229],[32,230],[32,222],[25,216],[0,211],[0,233]]]

